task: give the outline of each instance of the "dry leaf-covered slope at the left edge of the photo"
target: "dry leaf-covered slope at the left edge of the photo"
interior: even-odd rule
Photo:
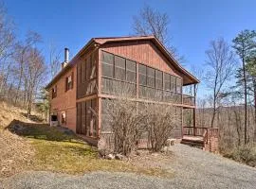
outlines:
[[[23,170],[34,154],[26,139],[5,129],[14,120],[28,121],[25,110],[0,103],[0,178]]]

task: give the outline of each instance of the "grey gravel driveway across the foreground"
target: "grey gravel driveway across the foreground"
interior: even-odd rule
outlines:
[[[162,167],[174,172],[163,180],[130,173],[94,172],[68,176],[50,172],[24,172],[3,180],[3,188],[249,188],[256,189],[256,168],[190,146],[172,147],[174,158]],[[0,186],[1,188],[1,186]]]

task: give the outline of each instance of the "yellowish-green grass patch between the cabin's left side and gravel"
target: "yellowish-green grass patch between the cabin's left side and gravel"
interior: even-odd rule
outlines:
[[[160,168],[136,166],[126,161],[98,158],[95,147],[88,146],[76,135],[66,135],[59,129],[32,127],[24,133],[35,156],[31,169],[49,170],[68,174],[90,171],[134,172],[150,176],[173,178],[174,174]]]

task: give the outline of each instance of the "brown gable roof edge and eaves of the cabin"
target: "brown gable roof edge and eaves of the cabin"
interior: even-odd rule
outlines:
[[[183,68],[177,60],[174,59],[174,57],[169,53],[169,51],[165,48],[165,46],[160,43],[155,36],[151,35],[151,36],[126,36],[126,37],[105,37],[105,38],[92,38],[88,43],[86,43],[82,49],[76,54],[76,56],[70,60],[68,62],[68,64],[64,67],[64,69],[62,69],[60,71],[60,73],[54,77],[47,85],[46,85],[46,89],[48,89],[54,82],[56,82],[58,80],[59,77],[63,76],[64,73],[66,71],[68,71],[71,67],[73,67],[78,60],[78,58],[82,55],[82,52],[84,52],[86,49],[88,49],[89,47],[91,47],[92,45],[95,46],[99,46],[101,47],[102,44],[104,43],[115,43],[115,42],[127,42],[127,41],[145,41],[145,40],[149,40],[152,41],[153,43],[155,43],[156,47],[158,47],[158,49],[165,55],[165,57],[170,60],[171,62],[173,62],[174,67],[181,72],[184,76],[190,78],[192,80],[192,82],[187,83],[187,85],[189,84],[195,84],[195,83],[199,83],[200,81],[192,76],[192,74],[190,72],[188,72],[185,68]]]

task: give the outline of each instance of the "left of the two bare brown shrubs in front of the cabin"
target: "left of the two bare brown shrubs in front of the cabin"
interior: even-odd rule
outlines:
[[[144,116],[137,113],[137,103],[125,99],[107,99],[108,119],[114,134],[114,151],[129,155],[135,149]]]

